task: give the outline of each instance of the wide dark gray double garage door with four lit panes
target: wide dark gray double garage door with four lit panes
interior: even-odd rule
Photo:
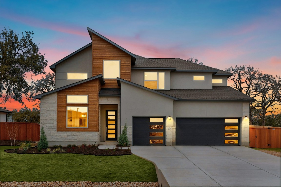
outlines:
[[[176,118],[176,145],[239,145],[237,118]]]

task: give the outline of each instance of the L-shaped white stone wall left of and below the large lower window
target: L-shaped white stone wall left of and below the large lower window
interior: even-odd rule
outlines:
[[[40,125],[44,127],[49,146],[67,144],[94,144],[99,143],[99,132],[65,132],[56,131],[57,121],[57,93],[49,94],[41,98]]]

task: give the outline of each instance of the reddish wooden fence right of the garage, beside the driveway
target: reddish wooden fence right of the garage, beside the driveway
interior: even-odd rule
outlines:
[[[250,147],[281,148],[281,127],[250,125]]]

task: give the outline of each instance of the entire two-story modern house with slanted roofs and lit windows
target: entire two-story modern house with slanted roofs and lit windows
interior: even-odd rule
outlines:
[[[50,68],[41,100],[49,145],[249,145],[249,102],[231,73],[179,58],[145,58],[88,28],[91,43]]]

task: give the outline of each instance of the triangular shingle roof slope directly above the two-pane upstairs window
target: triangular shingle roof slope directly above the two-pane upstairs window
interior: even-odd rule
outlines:
[[[167,70],[176,70],[175,67],[162,64],[156,61],[153,61],[149,58],[145,58],[139,55],[136,55],[136,63],[132,66],[132,69],[167,69]]]

